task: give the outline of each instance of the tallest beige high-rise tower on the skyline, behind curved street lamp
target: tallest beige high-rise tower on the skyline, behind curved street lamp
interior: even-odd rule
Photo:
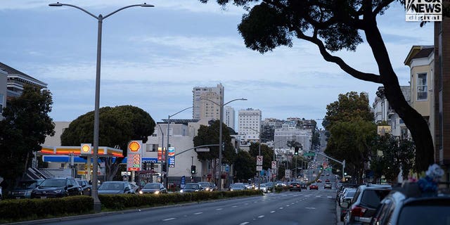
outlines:
[[[200,87],[195,86],[192,91],[193,96],[193,119],[213,118],[219,120],[219,111],[221,98],[224,97],[224,86],[217,84],[216,87]],[[207,100],[200,100],[200,98],[206,98]],[[212,103],[213,101],[214,103]]]

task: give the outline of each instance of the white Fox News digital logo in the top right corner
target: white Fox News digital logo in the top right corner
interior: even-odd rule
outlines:
[[[406,21],[442,21],[442,0],[405,0]]]

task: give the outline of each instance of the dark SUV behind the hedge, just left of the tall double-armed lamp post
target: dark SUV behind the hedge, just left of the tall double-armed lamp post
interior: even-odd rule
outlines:
[[[82,187],[73,178],[45,179],[31,192],[30,198],[61,198],[82,195]]]

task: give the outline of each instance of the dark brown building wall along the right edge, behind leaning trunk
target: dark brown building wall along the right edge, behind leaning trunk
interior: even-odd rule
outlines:
[[[443,1],[449,6],[449,1]],[[430,90],[435,98],[435,162],[444,169],[444,181],[450,181],[450,18],[435,22],[435,77]]]

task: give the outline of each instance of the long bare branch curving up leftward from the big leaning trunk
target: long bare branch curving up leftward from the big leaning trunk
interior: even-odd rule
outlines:
[[[299,37],[300,39],[304,39],[306,41],[310,41],[310,42],[316,44],[316,46],[319,47],[319,51],[320,51],[323,59],[325,59],[328,62],[337,64],[342,70],[347,72],[352,77],[355,77],[356,79],[361,79],[361,80],[364,80],[367,82],[374,82],[377,84],[381,84],[380,75],[375,75],[372,73],[361,72],[359,70],[355,70],[354,68],[349,66],[347,63],[345,63],[344,60],[342,60],[342,58],[340,58],[338,56],[333,56],[330,53],[328,53],[325,45],[323,44],[323,42],[320,39],[318,39],[316,37],[309,37],[309,36],[303,34],[300,30],[297,30],[296,32],[297,32],[297,37]]]

